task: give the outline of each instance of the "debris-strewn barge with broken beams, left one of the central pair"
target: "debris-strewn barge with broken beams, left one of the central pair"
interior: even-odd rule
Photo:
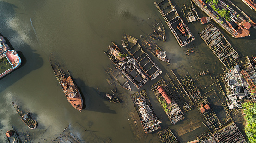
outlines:
[[[128,57],[114,42],[112,46],[108,46],[108,51],[104,53],[137,89],[140,89],[149,80],[136,60],[133,57]]]

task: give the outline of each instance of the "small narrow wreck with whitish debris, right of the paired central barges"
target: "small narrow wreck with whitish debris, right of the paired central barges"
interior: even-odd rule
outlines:
[[[142,40],[144,42],[144,46],[148,48],[148,50],[159,60],[164,61],[166,63],[170,63],[169,58],[166,56],[166,51],[163,51],[160,47],[158,47],[155,43],[153,43],[151,40]]]

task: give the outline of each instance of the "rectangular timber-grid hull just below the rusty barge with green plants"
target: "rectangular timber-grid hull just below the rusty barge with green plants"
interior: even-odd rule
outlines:
[[[199,35],[225,67],[228,67],[230,63],[239,57],[223,34],[212,23],[200,31]]]

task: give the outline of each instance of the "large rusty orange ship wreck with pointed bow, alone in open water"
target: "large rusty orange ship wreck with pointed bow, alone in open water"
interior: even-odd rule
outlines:
[[[64,73],[63,71],[64,67],[61,67],[59,65],[58,61],[56,60],[56,56],[53,53],[50,54],[50,63],[52,65],[52,69],[55,73],[55,76],[59,81],[61,88],[67,97],[68,102],[75,109],[81,112],[83,109],[83,99],[76,84],[73,82],[70,73],[68,72],[68,70],[67,70],[67,73],[69,75]]]

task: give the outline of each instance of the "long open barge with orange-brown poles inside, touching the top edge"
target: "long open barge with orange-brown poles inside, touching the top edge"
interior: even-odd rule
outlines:
[[[170,0],[163,0],[160,3],[154,2],[154,4],[181,47],[195,40]]]

